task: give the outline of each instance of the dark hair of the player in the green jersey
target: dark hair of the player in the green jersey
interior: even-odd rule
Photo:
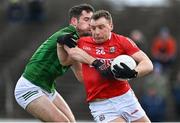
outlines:
[[[79,18],[83,10],[86,12],[94,12],[94,8],[89,4],[76,5],[69,10],[69,19],[72,17]]]

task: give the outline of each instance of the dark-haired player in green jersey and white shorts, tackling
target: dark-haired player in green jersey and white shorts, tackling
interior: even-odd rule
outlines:
[[[16,84],[14,95],[17,103],[43,122],[75,122],[68,104],[55,89],[56,78],[69,68],[69,65],[59,62],[57,39],[73,34],[71,38],[77,40],[78,35],[89,30],[93,11],[93,7],[88,4],[72,7],[69,10],[69,26],[57,31],[42,43]],[[63,52],[63,47],[61,50]],[[74,66],[75,63],[71,68]]]

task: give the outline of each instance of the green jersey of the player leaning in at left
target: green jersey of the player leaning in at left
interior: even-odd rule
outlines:
[[[57,38],[69,33],[74,33],[74,38],[78,39],[77,31],[72,25],[54,33],[33,54],[23,76],[42,89],[53,92],[55,79],[63,75],[69,68],[69,66],[62,66],[59,62],[56,49]]]

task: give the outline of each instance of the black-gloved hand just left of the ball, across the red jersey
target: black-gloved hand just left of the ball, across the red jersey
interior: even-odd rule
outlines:
[[[92,66],[94,66],[94,68],[98,70],[102,76],[110,79],[113,78],[111,67],[101,62],[100,60],[96,59],[93,61]]]

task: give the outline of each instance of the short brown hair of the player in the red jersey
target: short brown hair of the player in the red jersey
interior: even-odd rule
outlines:
[[[101,17],[104,17],[105,19],[109,20],[109,22],[112,22],[112,16],[106,10],[98,10],[98,11],[96,11],[91,18],[93,20],[98,20]]]

